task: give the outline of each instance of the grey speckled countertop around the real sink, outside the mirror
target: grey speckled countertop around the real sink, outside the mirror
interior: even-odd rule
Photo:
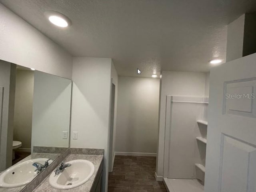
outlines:
[[[65,189],[56,189],[50,186],[49,183],[49,176],[50,174],[43,180],[43,182],[35,189],[33,192],[90,192],[94,179],[96,178],[96,174],[98,173],[98,169],[100,167],[100,164],[103,160],[103,155],[84,155],[84,154],[70,154],[66,159],[65,162],[76,160],[76,159],[84,159],[89,160],[94,164],[95,170],[92,177],[81,186],[78,186],[76,188],[72,188],[69,190]]]

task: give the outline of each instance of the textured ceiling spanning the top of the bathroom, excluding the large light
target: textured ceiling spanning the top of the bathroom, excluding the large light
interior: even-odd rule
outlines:
[[[209,70],[226,57],[226,25],[256,10],[256,0],[0,0],[74,56],[113,58],[119,75]],[[72,20],[60,29],[44,18]]]

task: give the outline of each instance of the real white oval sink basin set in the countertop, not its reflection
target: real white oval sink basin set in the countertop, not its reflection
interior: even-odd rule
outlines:
[[[94,173],[94,164],[88,160],[72,160],[65,162],[70,167],[58,175],[52,172],[49,177],[50,185],[57,189],[71,189],[87,182]]]

